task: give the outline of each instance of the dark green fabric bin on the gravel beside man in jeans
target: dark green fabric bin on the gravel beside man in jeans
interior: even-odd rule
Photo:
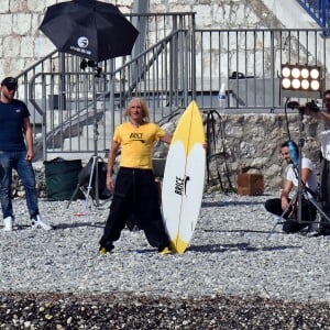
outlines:
[[[82,169],[81,160],[66,161],[61,157],[45,161],[46,195],[48,200],[69,200],[78,185]],[[79,190],[74,199],[84,199]]]

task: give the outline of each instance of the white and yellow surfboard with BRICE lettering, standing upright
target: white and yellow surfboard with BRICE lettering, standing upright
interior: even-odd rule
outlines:
[[[198,106],[182,114],[168,150],[162,185],[163,217],[172,249],[189,246],[199,216],[206,167],[205,132]]]

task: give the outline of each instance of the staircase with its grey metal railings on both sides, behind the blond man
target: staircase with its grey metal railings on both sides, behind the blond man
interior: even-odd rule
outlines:
[[[190,40],[194,13],[167,14],[166,20],[164,14],[129,16],[141,29],[157,32],[155,40],[141,33],[132,56],[89,65],[53,52],[18,77],[18,97],[29,105],[38,158],[106,151],[133,96],[146,99],[153,121],[185,103],[178,90],[191,86],[178,73],[191,72],[183,45]]]

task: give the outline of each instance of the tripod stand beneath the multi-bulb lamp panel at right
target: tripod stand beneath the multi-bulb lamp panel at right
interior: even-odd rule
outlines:
[[[304,113],[301,111],[299,111],[300,116],[299,116],[299,142],[298,142],[298,151],[299,151],[299,158],[298,158],[298,170],[297,170],[297,166],[295,166],[294,170],[295,173],[298,172],[298,189],[296,191],[295,197],[290,200],[290,204],[288,205],[287,209],[282,213],[279,220],[275,223],[275,226],[273,227],[272,231],[270,232],[267,239],[272,235],[272,233],[274,232],[275,228],[277,227],[277,224],[283,223],[284,221],[287,221],[286,219],[284,219],[284,215],[286,213],[286,211],[288,210],[288,208],[292,206],[292,204],[294,202],[294,200],[297,198],[298,201],[298,208],[297,208],[297,223],[318,223],[318,221],[302,221],[301,219],[301,201],[302,201],[302,197],[308,200],[309,202],[311,202],[316,209],[319,211],[319,213],[322,216],[323,219],[326,219],[328,222],[330,222],[330,218],[329,216],[324,212],[324,210],[322,209],[322,206],[317,202],[315,195],[316,191],[311,191],[310,189],[308,189],[301,180],[301,163],[302,163],[302,155],[301,155],[301,150],[304,146],[304,138],[302,138],[302,132],[304,132]],[[308,195],[309,193],[309,195]],[[310,197],[311,196],[311,197]]]

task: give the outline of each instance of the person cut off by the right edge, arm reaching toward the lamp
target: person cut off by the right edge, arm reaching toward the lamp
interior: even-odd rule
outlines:
[[[323,94],[324,110],[320,110],[315,103],[306,103],[299,111],[315,119],[323,120],[324,129],[321,132],[321,177],[320,200],[324,212],[330,216],[330,89]],[[330,223],[322,219],[320,234],[330,234]]]

